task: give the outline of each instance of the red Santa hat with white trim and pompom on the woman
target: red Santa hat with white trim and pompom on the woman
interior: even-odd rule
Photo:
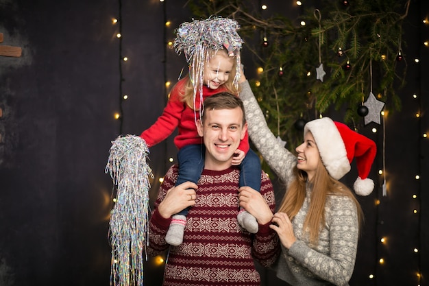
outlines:
[[[358,179],[353,189],[358,195],[369,195],[374,189],[374,182],[368,175],[376,157],[376,143],[329,117],[309,121],[304,126],[304,134],[308,131],[315,138],[323,165],[332,178],[343,178],[356,158]]]

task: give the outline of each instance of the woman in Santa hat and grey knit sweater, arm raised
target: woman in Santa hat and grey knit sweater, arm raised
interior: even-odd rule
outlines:
[[[358,180],[354,190],[368,195],[367,178],[376,144],[342,123],[324,117],[304,127],[297,157],[269,130],[249,84],[243,79],[243,100],[249,136],[269,166],[286,184],[286,195],[270,226],[278,233],[282,255],[277,276],[291,285],[348,285],[354,270],[361,208],[339,182],[355,158]],[[267,212],[260,195],[249,187],[240,191],[240,206],[249,213]]]

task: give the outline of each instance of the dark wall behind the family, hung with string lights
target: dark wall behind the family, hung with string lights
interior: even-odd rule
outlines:
[[[110,141],[120,133],[140,134],[161,114],[164,82],[173,84],[185,67],[183,56],[165,50],[165,42],[173,39],[175,27],[191,20],[184,0],[122,2],[120,49],[119,25],[112,24],[119,1],[0,0],[0,45],[23,49],[20,58],[0,56],[0,285],[109,283],[112,181],[104,167]],[[290,3],[272,2],[276,11],[293,14]],[[417,285],[419,270],[420,285],[428,285],[429,147],[422,135],[429,132],[429,56],[422,43],[429,28],[421,25],[428,19],[426,2],[412,1],[406,23],[402,111],[389,114],[384,133],[373,123],[363,130],[379,146],[371,172],[376,182],[385,134],[388,194],[383,197],[378,186],[360,198],[366,224],[354,286]],[[166,20],[171,27],[164,27]],[[120,55],[129,58],[121,64],[122,75]],[[251,69],[252,59],[244,60]],[[121,76],[129,95],[122,103],[122,129],[113,117],[120,108]],[[373,127],[378,133],[371,133]],[[152,199],[175,152],[171,138],[151,148]],[[381,237],[387,243],[380,243]],[[145,270],[146,284],[160,285],[162,267],[149,259]],[[273,272],[260,271],[264,285],[281,285]]]

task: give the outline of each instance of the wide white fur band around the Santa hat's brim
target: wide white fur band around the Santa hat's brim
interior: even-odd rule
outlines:
[[[332,178],[339,180],[351,167],[347,151],[339,130],[329,117],[315,119],[306,123],[304,134],[311,132],[315,138],[323,165]]]

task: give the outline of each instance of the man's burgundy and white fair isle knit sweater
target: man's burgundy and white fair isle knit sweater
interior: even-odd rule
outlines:
[[[180,246],[171,246],[164,271],[164,286],[256,286],[260,276],[254,260],[269,266],[280,252],[278,237],[269,224],[259,225],[256,235],[237,222],[240,171],[204,169],[198,181],[196,204],[189,210]],[[261,174],[260,193],[271,211],[275,208],[273,185]],[[165,235],[171,219],[158,213],[158,204],[177,180],[177,166],[169,169],[161,184],[154,213],[149,220],[149,255],[165,252]]]

